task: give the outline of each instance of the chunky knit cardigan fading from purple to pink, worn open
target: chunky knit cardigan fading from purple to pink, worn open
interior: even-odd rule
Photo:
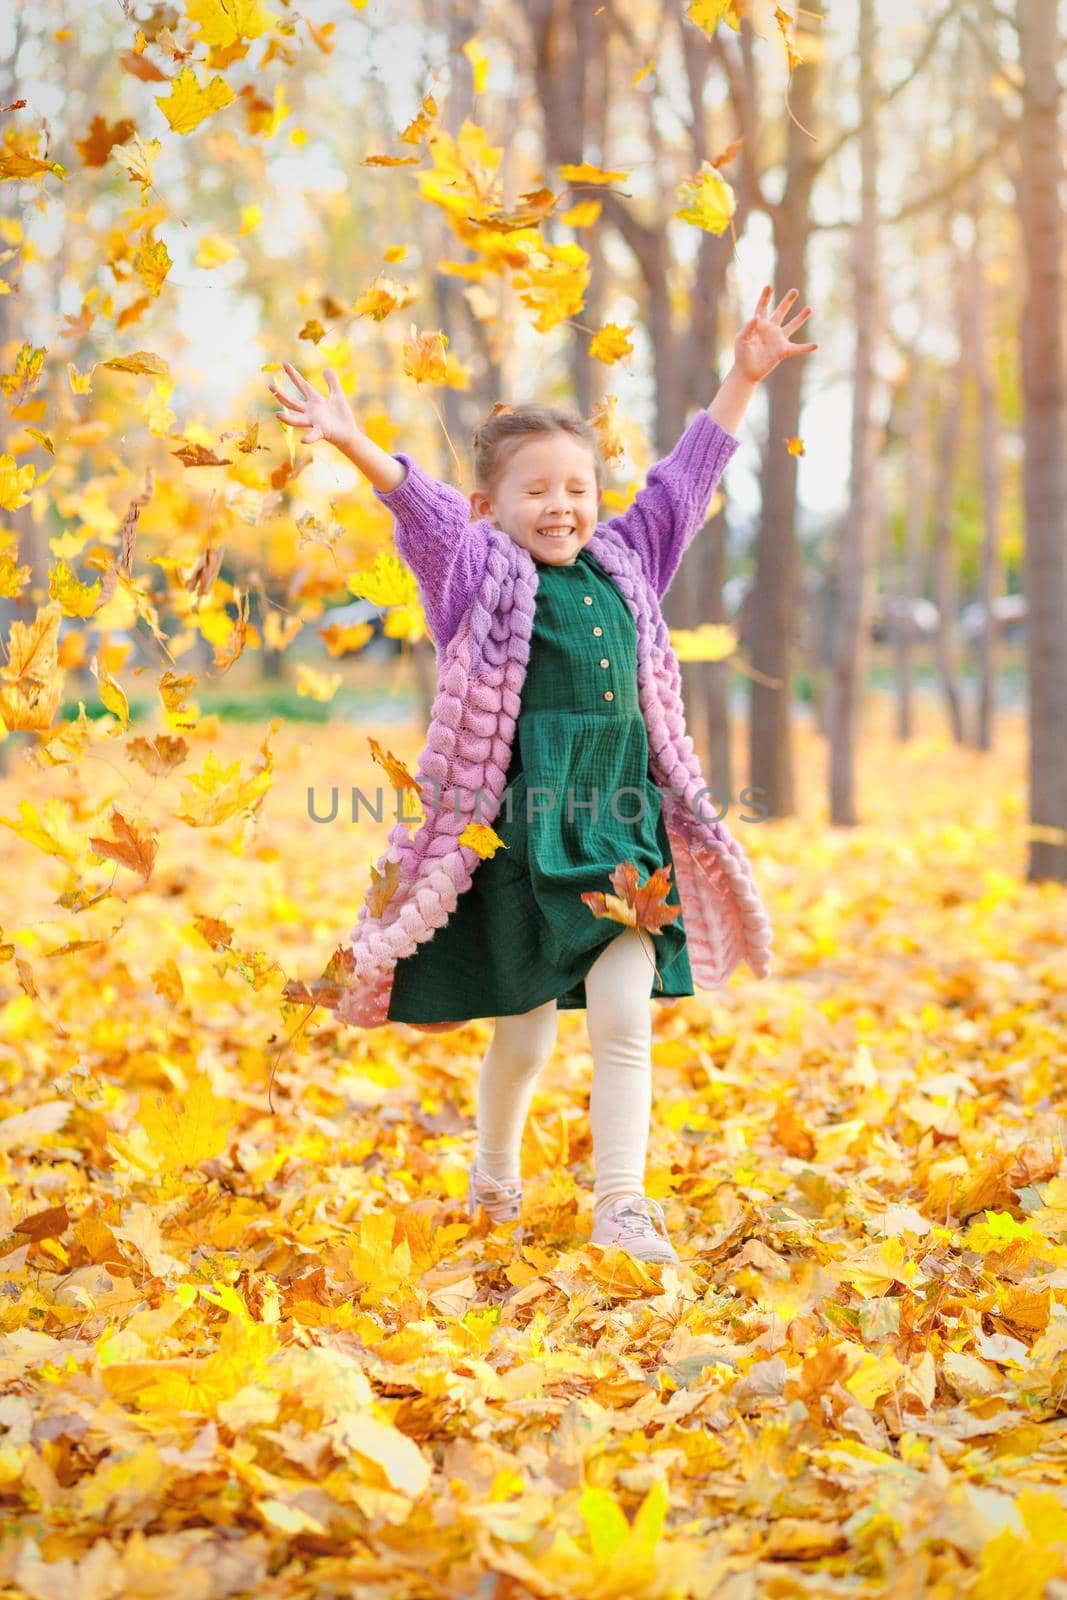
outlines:
[[[766,978],[771,928],[745,851],[725,822],[702,810],[710,790],[685,731],[678,659],[659,602],[739,443],[705,410],[697,411],[670,454],[651,467],[633,504],[598,523],[587,546],[637,624],[649,771],[661,789],[673,790],[664,798],[664,821],[689,965],[704,989],[725,984],[742,960]],[[397,550],[419,587],[437,648],[438,690],[416,768],[424,821],[414,834],[405,822],[389,834],[378,872],[398,862],[397,888],[379,917],[370,910],[368,891],[349,936],[354,970],[338,1016],[360,1027],[389,1021],[397,962],[448,922],[482,859],[458,840],[469,822],[491,824],[501,806],[537,594],[537,563],[528,550],[488,518],[470,522],[459,490],[430,478],[403,453],[395,459],[408,469],[406,478],[376,494],[395,517]],[[462,1022],[410,1026],[437,1034]]]

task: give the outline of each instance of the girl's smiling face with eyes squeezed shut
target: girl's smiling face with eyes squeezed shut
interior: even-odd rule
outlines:
[[[571,434],[537,434],[507,454],[493,490],[475,490],[470,506],[536,562],[573,566],[597,531],[601,493],[585,445]]]

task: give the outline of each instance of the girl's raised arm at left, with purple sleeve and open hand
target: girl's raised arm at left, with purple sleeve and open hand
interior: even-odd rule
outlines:
[[[443,650],[482,586],[490,554],[485,530],[470,523],[470,506],[459,490],[429,477],[411,456],[390,456],[368,438],[331,366],[323,370],[328,392],[322,395],[290,362],[282,365],[298,398],[269,384],[285,408],[275,414],[290,427],[307,429],[301,443],[325,438],[336,445],[394,514],[397,550],[414,573],[427,627]]]

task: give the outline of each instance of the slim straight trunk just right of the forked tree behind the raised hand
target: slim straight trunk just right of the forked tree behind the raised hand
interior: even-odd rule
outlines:
[[[838,618],[830,680],[830,822],[854,826],[856,744],[869,654],[870,547],[873,542],[875,434],[872,397],[878,285],[878,128],[875,8],[859,0],[859,171],[861,208],[854,238],[856,382],[853,389],[849,514],[838,550]]]

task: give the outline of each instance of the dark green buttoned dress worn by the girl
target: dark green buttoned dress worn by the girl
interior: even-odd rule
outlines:
[[[625,925],[595,917],[581,894],[613,894],[621,861],[641,883],[670,862],[667,904],[680,904],[637,693],[637,627],[589,549],[573,566],[539,563],[507,787],[491,826],[507,848],[478,862],[448,922],[397,962],[390,1021],[514,1016],[547,1000],[584,1010],[585,973]],[[691,995],[681,915],[653,944],[662,982],[649,963],[649,998]]]

